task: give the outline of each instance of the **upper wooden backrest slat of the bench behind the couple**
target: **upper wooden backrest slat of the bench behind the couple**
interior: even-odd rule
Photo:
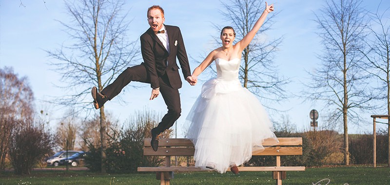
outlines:
[[[150,138],[145,138],[144,147],[150,147]],[[301,137],[279,137],[279,143],[274,143],[271,139],[266,139],[263,146],[302,146]],[[193,143],[188,139],[161,138],[159,147],[194,147]]]

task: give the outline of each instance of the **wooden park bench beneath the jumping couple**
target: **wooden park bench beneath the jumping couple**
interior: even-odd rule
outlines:
[[[169,185],[173,179],[174,172],[184,171],[212,171],[204,170],[195,166],[171,166],[171,156],[193,156],[195,148],[188,139],[160,139],[158,150],[153,151],[150,147],[150,138],[145,138],[143,154],[145,156],[165,157],[165,166],[160,167],[138,167],[137,171],[156,172],[156,179],[160,180],[160,185]],[[282,184],[282,179],[286,179],[286,171],[304,171],[305,166],[280,166],[280,156],[282,155],[302,155],[301,137],[278,138],[276,146],[265,148],[261,152],[253,152],[252,155],[276,156],[276,166],[238,166],[239,171],[273,171],[273,179],[276,185]],[[263,146],[270,146],[270,141],[265,140]],[[228,169],[230,170],[230,168]]]

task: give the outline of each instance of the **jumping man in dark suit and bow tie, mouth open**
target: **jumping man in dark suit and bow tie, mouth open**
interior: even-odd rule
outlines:
[[[150,28],[140,37],[144,62],[127,68],[101,92],[93,87],[92,97],[95,108],[99,109],[107,100],[118,95],[131,81],[150,83],[152,87],[150,100],[156,98],[161,92],[168,112],[158,126],[151,130],[151,146],[153,150],[157,151],[160,134],[165,129],[172,127],[181,113],[178,89],[181,88],[182,83],[178,72],[179,67],[176,64],[176,56],[185,79],[191,85],[195,85],[196,79],[191,77],[180,29],[176,26],[163,24],[165,21],[164,10],[158,5],[149,7],[147,16]]]

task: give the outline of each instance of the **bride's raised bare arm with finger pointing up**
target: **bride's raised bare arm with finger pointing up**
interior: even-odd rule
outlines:
[[[268,6],[267,2],[265,2],[265,10],[263,14],[261,14],[260,18],[256,21],[252,30],[249,31],[248,34],[244,38],[242,38],[242,40],[238,41],[235,44],[235,47],[239,47],[241,51],[244,50],[244,48],[247,47],[249,43],[252,41],[257,31],[260,29],[261,25],[263,25],[264,20],[266,19],[268,13],[272,11],[273,11],[273,4]]]

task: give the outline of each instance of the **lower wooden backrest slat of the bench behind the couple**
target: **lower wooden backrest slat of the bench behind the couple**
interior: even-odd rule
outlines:
[[[192,156],[195,148],[144,148],[143,154],[146,156]],[[270,147],[263,151],[254,151],[252,155],[302,155],[302,147]]]

